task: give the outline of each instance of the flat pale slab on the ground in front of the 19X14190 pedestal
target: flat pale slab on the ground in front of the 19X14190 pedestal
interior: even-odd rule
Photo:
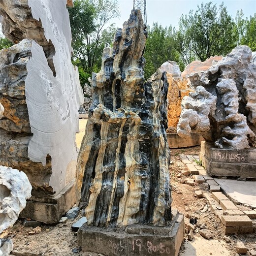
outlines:
[[[240,204],[256,208],[256,181],[237,181],[215,179],[228,197]]]

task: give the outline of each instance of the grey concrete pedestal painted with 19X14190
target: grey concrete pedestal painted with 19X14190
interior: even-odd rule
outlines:
[[[202,142],[200,160],[211,176],[256,179],[256,148],[217,149],[209,143]]]

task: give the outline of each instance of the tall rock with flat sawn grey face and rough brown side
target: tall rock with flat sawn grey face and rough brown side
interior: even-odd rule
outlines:
[[[78,70],[71,64],[66,0],[0,0],[0,164],[23,170],[34,196],[52,196],[75,178]],[[26,39],[27,38],[27,39]]]

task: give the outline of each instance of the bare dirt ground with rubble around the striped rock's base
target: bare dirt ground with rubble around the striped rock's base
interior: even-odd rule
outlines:
[[[80,121],[82,128],[85,123],[86,120]],[[84,132],[84,128],[82,132]],[[81,140],[81,137],[78,140]],[[224,235],[220,220],[207,206],[205,199],[194,196],[194,191],[201,189],[200,185],[192,187],[179,182],[182,177],[178,178],[177,176],[180,176],[180,171],[184,168],[179,154],[198,155],[199,151],[199,146],[171,150],[172,208],[183,213],[186,222],[189,221],[189,218],[197,218],[197,226],[204,225],[209,229],[213,234],[213,239],[207,240],[201,237],[198,232],[200,228],[196,227],[192,241],[188,241],[188,235],[185,234],[179,256],[238,256],[235,250],[237,241],[244,242],[249,250],[256,250],[256,234]],[[5,230],[0,237],[12,238],[14,255],[18,256],[102,256],[94,253],[72,252],[75,249],[79,251],[79,248],[76,233],[71,230],[71,225],[80,217],[78,216],[74,221],[67,220],[65,223],[57,225],[42,225],[41,231],[36,234],[30,234],[29,232],[33,228],[24,227],[23,221],[18,220],[12,228]]]

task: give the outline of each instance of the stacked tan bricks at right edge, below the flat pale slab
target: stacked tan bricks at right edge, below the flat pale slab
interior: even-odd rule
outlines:
[[[205,193],[205,198],[215,214],[221,219],[225,234],[254,232],[255,227],[250,217],[256,217],[256,211],[239,210],[222,192],[212,192],[211,195]]]

